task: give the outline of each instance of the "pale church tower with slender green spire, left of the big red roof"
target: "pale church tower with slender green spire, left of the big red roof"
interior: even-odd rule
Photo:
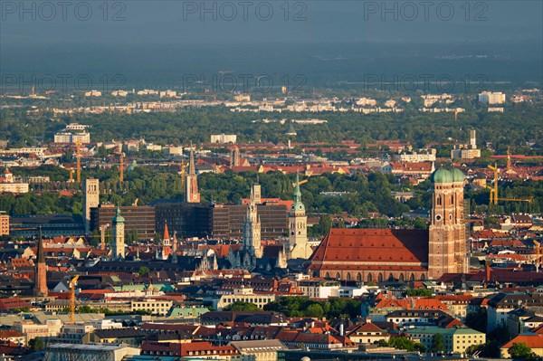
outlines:
[[[305,205],[301,203],[300,176],[296,175],[296,188],[294,189],[294,203],[289,212],[289,247],[291,259],[310,257],[308,247],[308,217],[305,214]]]

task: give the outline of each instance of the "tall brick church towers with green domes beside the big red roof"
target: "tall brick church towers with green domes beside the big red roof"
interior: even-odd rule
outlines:
[[[463,181],[458,169],[438,169],[433,183],[432,214],[428,243],[428,278],[443,273],[467,272],[465,220],[463,219]]]

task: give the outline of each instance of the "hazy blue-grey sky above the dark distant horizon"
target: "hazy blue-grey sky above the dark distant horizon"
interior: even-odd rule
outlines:
[[[451,42],[542,39],[534,1],[5,1],[0,43]]]

